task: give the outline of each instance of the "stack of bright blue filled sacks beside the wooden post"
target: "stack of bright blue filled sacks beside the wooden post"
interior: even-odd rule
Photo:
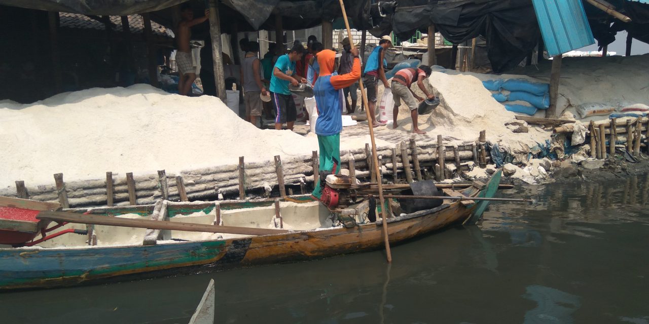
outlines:
[[[505,105],[505,109],[515,113],[534,115],[538,109],[550,106],[550,85],[535,83],[524,79],[498,79],[483,81],[482,84],[493,92],[493,98]],[[526,104],[513,104],[524,101]]]

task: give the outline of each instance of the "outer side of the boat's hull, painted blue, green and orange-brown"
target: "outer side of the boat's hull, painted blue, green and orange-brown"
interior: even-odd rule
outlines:
[[[391,218],[391,244],[465,220],[475,205],[441,205]],[[382,224],[151,246],[0,249],[0,290],[54,288],[322,259],[383,246]]]

